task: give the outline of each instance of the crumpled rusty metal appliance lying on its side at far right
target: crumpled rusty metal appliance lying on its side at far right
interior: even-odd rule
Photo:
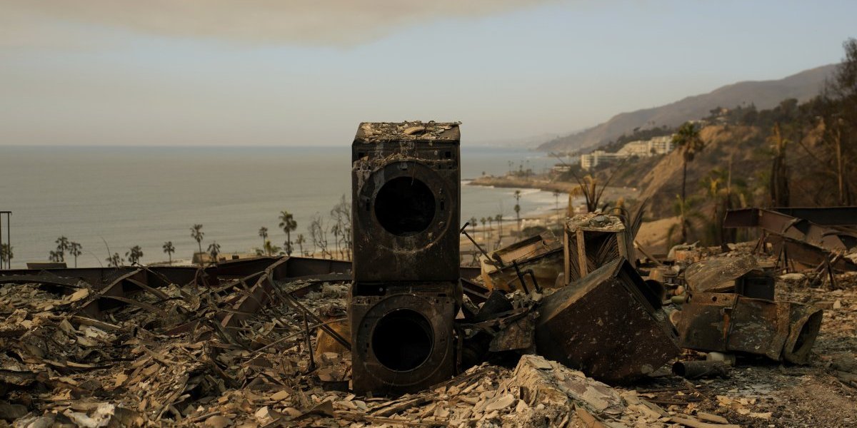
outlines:
[[[765,355],[806,364],[822,310],[732,293],[694,293],[677,312],[682,348]]]

